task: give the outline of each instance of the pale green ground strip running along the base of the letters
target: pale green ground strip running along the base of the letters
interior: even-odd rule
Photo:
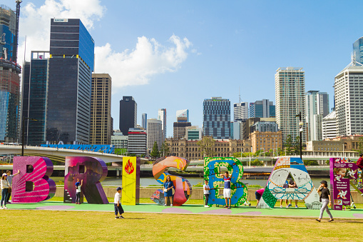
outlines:
[[[39,210],[39,211],[105,211],[113,213],[113,203],[109,204],[88,204],[79,205],[72,203],[63,203],[61,201],[46,201],[41,203],[13,203],[6,205],[9,209],[16,210]],[[226,216],[272,216],[287,218],[317,218],[319,210],[310,210],[305,207],[301,208],[274,208],[261,209],[253,206],[240,206],[237,208],[227,209],[219,207],[205,208],[201,205],[183,205],[183,206],[159,206],[151,203],[140,203],[136,206],[123,205],[125,216],[127,213],[178,213],[178,214],[209,214],[209,215],[226,215]],[[334,211],[330,210],[334,218],[350,218],[362,219],[363,208],[357,208],[350,211]],[[324,213],[324,218],[327,213]]]

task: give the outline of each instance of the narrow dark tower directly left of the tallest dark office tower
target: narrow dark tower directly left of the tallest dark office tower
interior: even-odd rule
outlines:
[[[31,51],[31,61],[23,69],[21,113],[36,119],[24,120],[24,141],[33,146],[46,143],[48,59],[48,51]]]

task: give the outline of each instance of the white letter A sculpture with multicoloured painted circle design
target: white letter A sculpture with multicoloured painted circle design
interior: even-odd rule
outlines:
[[[294,178],[297,188],[284,186],[289,173]],[[278,158],[257,208],[274,208],[277,199],[304,200],[305,206],[309,209],[322,207],[317,189],[300,158]]]

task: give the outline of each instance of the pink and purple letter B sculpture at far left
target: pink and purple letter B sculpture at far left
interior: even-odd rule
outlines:
[[[15,156],[13,171],[20,173],[13,178],[12,203],[38,203],[56,194],[56,183],[49,178],[53,173],[49,158]]]

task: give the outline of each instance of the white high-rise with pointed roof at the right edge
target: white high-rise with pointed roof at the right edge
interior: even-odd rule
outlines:
[[[337,136],[363,133],[363,66],[354,60],[335,76],[334,96]]]

